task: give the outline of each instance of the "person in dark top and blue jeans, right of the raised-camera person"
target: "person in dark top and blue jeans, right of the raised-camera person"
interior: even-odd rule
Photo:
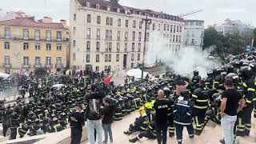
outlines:
[[[108,136],[110,136],[110,142],[113,142],[111,124],[114,120],[114,107],[111,106],[111,99],[104,99],[104,108],[102,109],[102,128],[105,134],[105,140],[103,143],[107,143]]]

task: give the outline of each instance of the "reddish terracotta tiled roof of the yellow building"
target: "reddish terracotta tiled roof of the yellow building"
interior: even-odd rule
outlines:
[[[50,29],[64,29],[62,23],[44,23],[44,22],[36,22],[30,18],[17,18],[11,19],[7,21],[0,22],[0,25],[6,26],[30,26],[30,27],[41,27],[41,28],[50,28]]]

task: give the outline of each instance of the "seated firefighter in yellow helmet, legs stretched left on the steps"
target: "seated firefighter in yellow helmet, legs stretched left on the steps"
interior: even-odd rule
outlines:
[[[139,108],[139,113],[141,116],[136,118],[133,124],[130,124],[129,130],[124,131],[124,134],[130,135],[136,131],[146,131],[147,126],[149,126],[149,118],[146,114],[145,108]]]

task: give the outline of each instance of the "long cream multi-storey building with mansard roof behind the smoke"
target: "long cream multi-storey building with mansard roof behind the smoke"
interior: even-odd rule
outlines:
[[[142,18],[151,19],[145,34]],[[182,47],[182,18],[153,10],[139,10],[105,0],[70,0],[70,68],[117,70],[142,64],[150,34],[170,39],[173,50]],[[146,37],[145,37],[146,35]]]

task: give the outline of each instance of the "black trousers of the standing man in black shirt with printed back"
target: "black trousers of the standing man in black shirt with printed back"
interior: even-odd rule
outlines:
[[[156,124],[158,144],[166,144],[167,124]]]

